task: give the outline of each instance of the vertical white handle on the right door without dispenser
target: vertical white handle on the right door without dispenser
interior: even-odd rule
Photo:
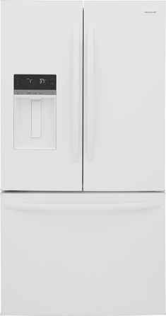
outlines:
[[[86,152],[89,162],[93,161],[95,149],[95,125],[94,125],[94,30],[87,32],[87,99],[86,99]]]

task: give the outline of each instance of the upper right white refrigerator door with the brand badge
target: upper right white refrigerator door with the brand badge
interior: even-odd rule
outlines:
[[[84,34],[84,190],[164,190],[165,1],[85,1]]]

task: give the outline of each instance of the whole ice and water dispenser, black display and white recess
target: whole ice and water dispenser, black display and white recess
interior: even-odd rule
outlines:
[[[14,149],[56,149],[57,76],[14,75]]]

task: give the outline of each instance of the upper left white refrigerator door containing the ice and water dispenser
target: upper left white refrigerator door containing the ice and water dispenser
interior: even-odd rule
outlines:
[[[1,2],[3,190],[82,190],[82,7]]]

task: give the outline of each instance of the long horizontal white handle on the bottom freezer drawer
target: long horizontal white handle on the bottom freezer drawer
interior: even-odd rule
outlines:
[[[116,203],[116,204],[45,204],[45,203],[6,203],[5,208],[8,210],[39,210],[39,211],[90,211],[93,212],[110,212],[124,210],[152,210],[160,208],[160,203],[143,202],[143,203]]]

